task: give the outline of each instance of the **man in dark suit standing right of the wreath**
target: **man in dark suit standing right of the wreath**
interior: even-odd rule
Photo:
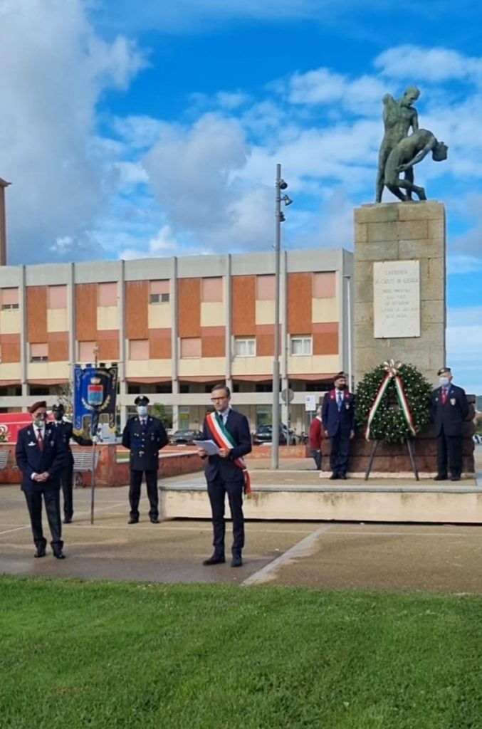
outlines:
[[[436,481],[444,481],[451,471],[451,480],[462,476],[462,423],[469,414],[469,404],[462,387],[452,384],[450,367],[438,370],[439,387],[432,392],[432,420],[437,435]]]

